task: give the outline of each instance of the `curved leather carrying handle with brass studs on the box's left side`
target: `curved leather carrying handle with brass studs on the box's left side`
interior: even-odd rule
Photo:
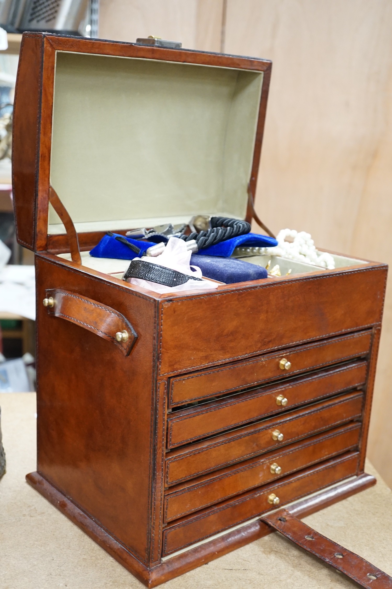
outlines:
[[[81,294],[63,289],[49,289],[46,290],[45,303],[49,315],[75,323],[114,343],[124,356],[128,356],[138,337],[128,319],[121,313]],[[120,340],[116,338],[116,334],[120,334]]]

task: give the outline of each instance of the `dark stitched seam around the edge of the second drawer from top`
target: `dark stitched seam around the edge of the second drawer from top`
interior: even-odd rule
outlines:
[[[339,370],[339,371],[337,371],[334,374],[341,373],[341,372],[344,372],[344,370]],[[348,372],[348,370],[347,370],[347,372]],[[322,378],[326,378],[326,376],[325,377],[321,377],[320,378],[320,382],[322,382]],[[313,382],[315,382],[315,381],[313,381]],[[316,382],[317,382],[317,380],[316,380]],[[362,380],[360,382],[353,383],[353,384],[351,384],[349,386],[346,385],[343,388],[333,389],[333,391],[330,392],[330,393],[322,393],[321,395],[311,396],[310,399],[306,399],[305,401],[301,400],[301,401],[298,401],[296,403],[290,404],[290,408],[297,407],[298,405],[301,405],[302,403],[304,403],[306,401],[317,401],[317,399],[322,399],[324,397],[327,397],[327,396],[330,396],[330,395],[334,395],[334,394],[337,394],[337,393],[346,391],[347,389],[352,389],[352,388],[356,388],[356,387],[358,388],[359,386],[364,385],[364,382],[366,382],[366,379],[364,381]],[[297,383],[297,386],[300,386],[300,384],[301,383]],[[294,386],[287,387],[287,390],[293,389]],[[286,390],[286,389],[284,389],[284,390]],[[248,399],[239,399],[238,401],[232,401],[230,403],[227,403],[226,406],[223,405],[223,408],[228,408],[228,407],[229,408],[232,408],[235,405],[239,405],[239,403],[246,403],[247,401],[254,401],[254,399],[257,399],[257,398],[263,398],[263,397],[268,397],[270,395],[276,395],[277,392],[279,392],[279,390],[270,391],[269,393],[264,393],[264,395],[263,394],[261,394],[261,395],[260,394],[259,395],[252,395]],[[196,416],[199,417],[201,415],[205,415],[206,413],[211,413],[213,411],[220,411],[221,409],[222,409],[221,406],[213,407],[213,408],[210,408],[210,409],[206,409],[203,412],[197,413]],[[186,419],[192,419],[195,415],[190,415],[190,416],[189,415],[186,415],[186,416],[179,417],[179,418],[173,418],[170,421],[168,419],[167,422],[168,422],[168,427],[169,427],[169,444],[170,444],[170,447],[183,445],[183,444],[186,444],[187,442],[191,442],[193,440],[200,439],[200,438],[205,438],[206,436],[217,434],[217,432],[225,431],[225,429],[230,429],[232,427],[240,426],[243,423],[248,423],[249,421],[253,421],[253,419],[261,418],[264,415],[271,415],[275,411],[276,411],[276,409],[274,409],[273,411],[269,411],[269,412],[263,413],[262,415],[256,416],[255,418],[253,418],[253,417],[252,418],[248,418],[248,419],[245,419],[243,421],[236,422],[236,423],[234,423],[232,425],[226,425],[226,426],[223,426],[222,428],[213,429],[212,431],[205,432],[204,434],[200,434],[200,435],[194,436],[193,438],[186,438],[186,439],[182,440],[181,442],[177,442],[176,444],[172,444],[172,431],[173,431],[172,424],[173,423],[179,423],[181,421],[186,421]],[[279,413],[278,413],[278,415],[279,415]]]

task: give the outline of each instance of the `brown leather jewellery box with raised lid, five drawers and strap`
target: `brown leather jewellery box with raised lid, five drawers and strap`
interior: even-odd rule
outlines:
[[[271,67],[22,39],[12,171],[38,334],[27,479],[148,587],[273,528],[390,586],[294,518],[376,482],[364,460],[387,266],[336,254],[335,270],[156,294],[121,280],[128,261],[88,253],[108,230],[252,219]]]

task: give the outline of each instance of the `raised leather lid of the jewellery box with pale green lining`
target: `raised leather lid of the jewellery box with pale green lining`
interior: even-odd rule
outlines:
[[[17,237],[66,251],[195,214],[252,217],[271,62],[24,34],[14,105]]]

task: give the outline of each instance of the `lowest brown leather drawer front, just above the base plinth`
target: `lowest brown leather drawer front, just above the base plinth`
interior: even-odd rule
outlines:
[[[270,493],[279,497],[280,506],[282,506],[356,475],[358,461],[359,452],[349,452],[339,458],[321,462],[317,466],[284,477],[274,484],[264,485],[236,499],[229,499],[210,509],[203,509],[193,517],[188,516],[163,531],[162,556],[172,554],[270,511],[272,509],[272,505],[268,502]]]

